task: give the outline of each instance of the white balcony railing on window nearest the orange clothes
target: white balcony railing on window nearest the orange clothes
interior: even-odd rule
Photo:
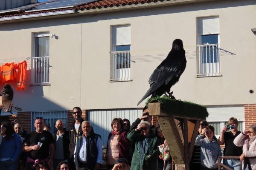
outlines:
[[[31,58],[32,85],[49,84],[49,56]]]

